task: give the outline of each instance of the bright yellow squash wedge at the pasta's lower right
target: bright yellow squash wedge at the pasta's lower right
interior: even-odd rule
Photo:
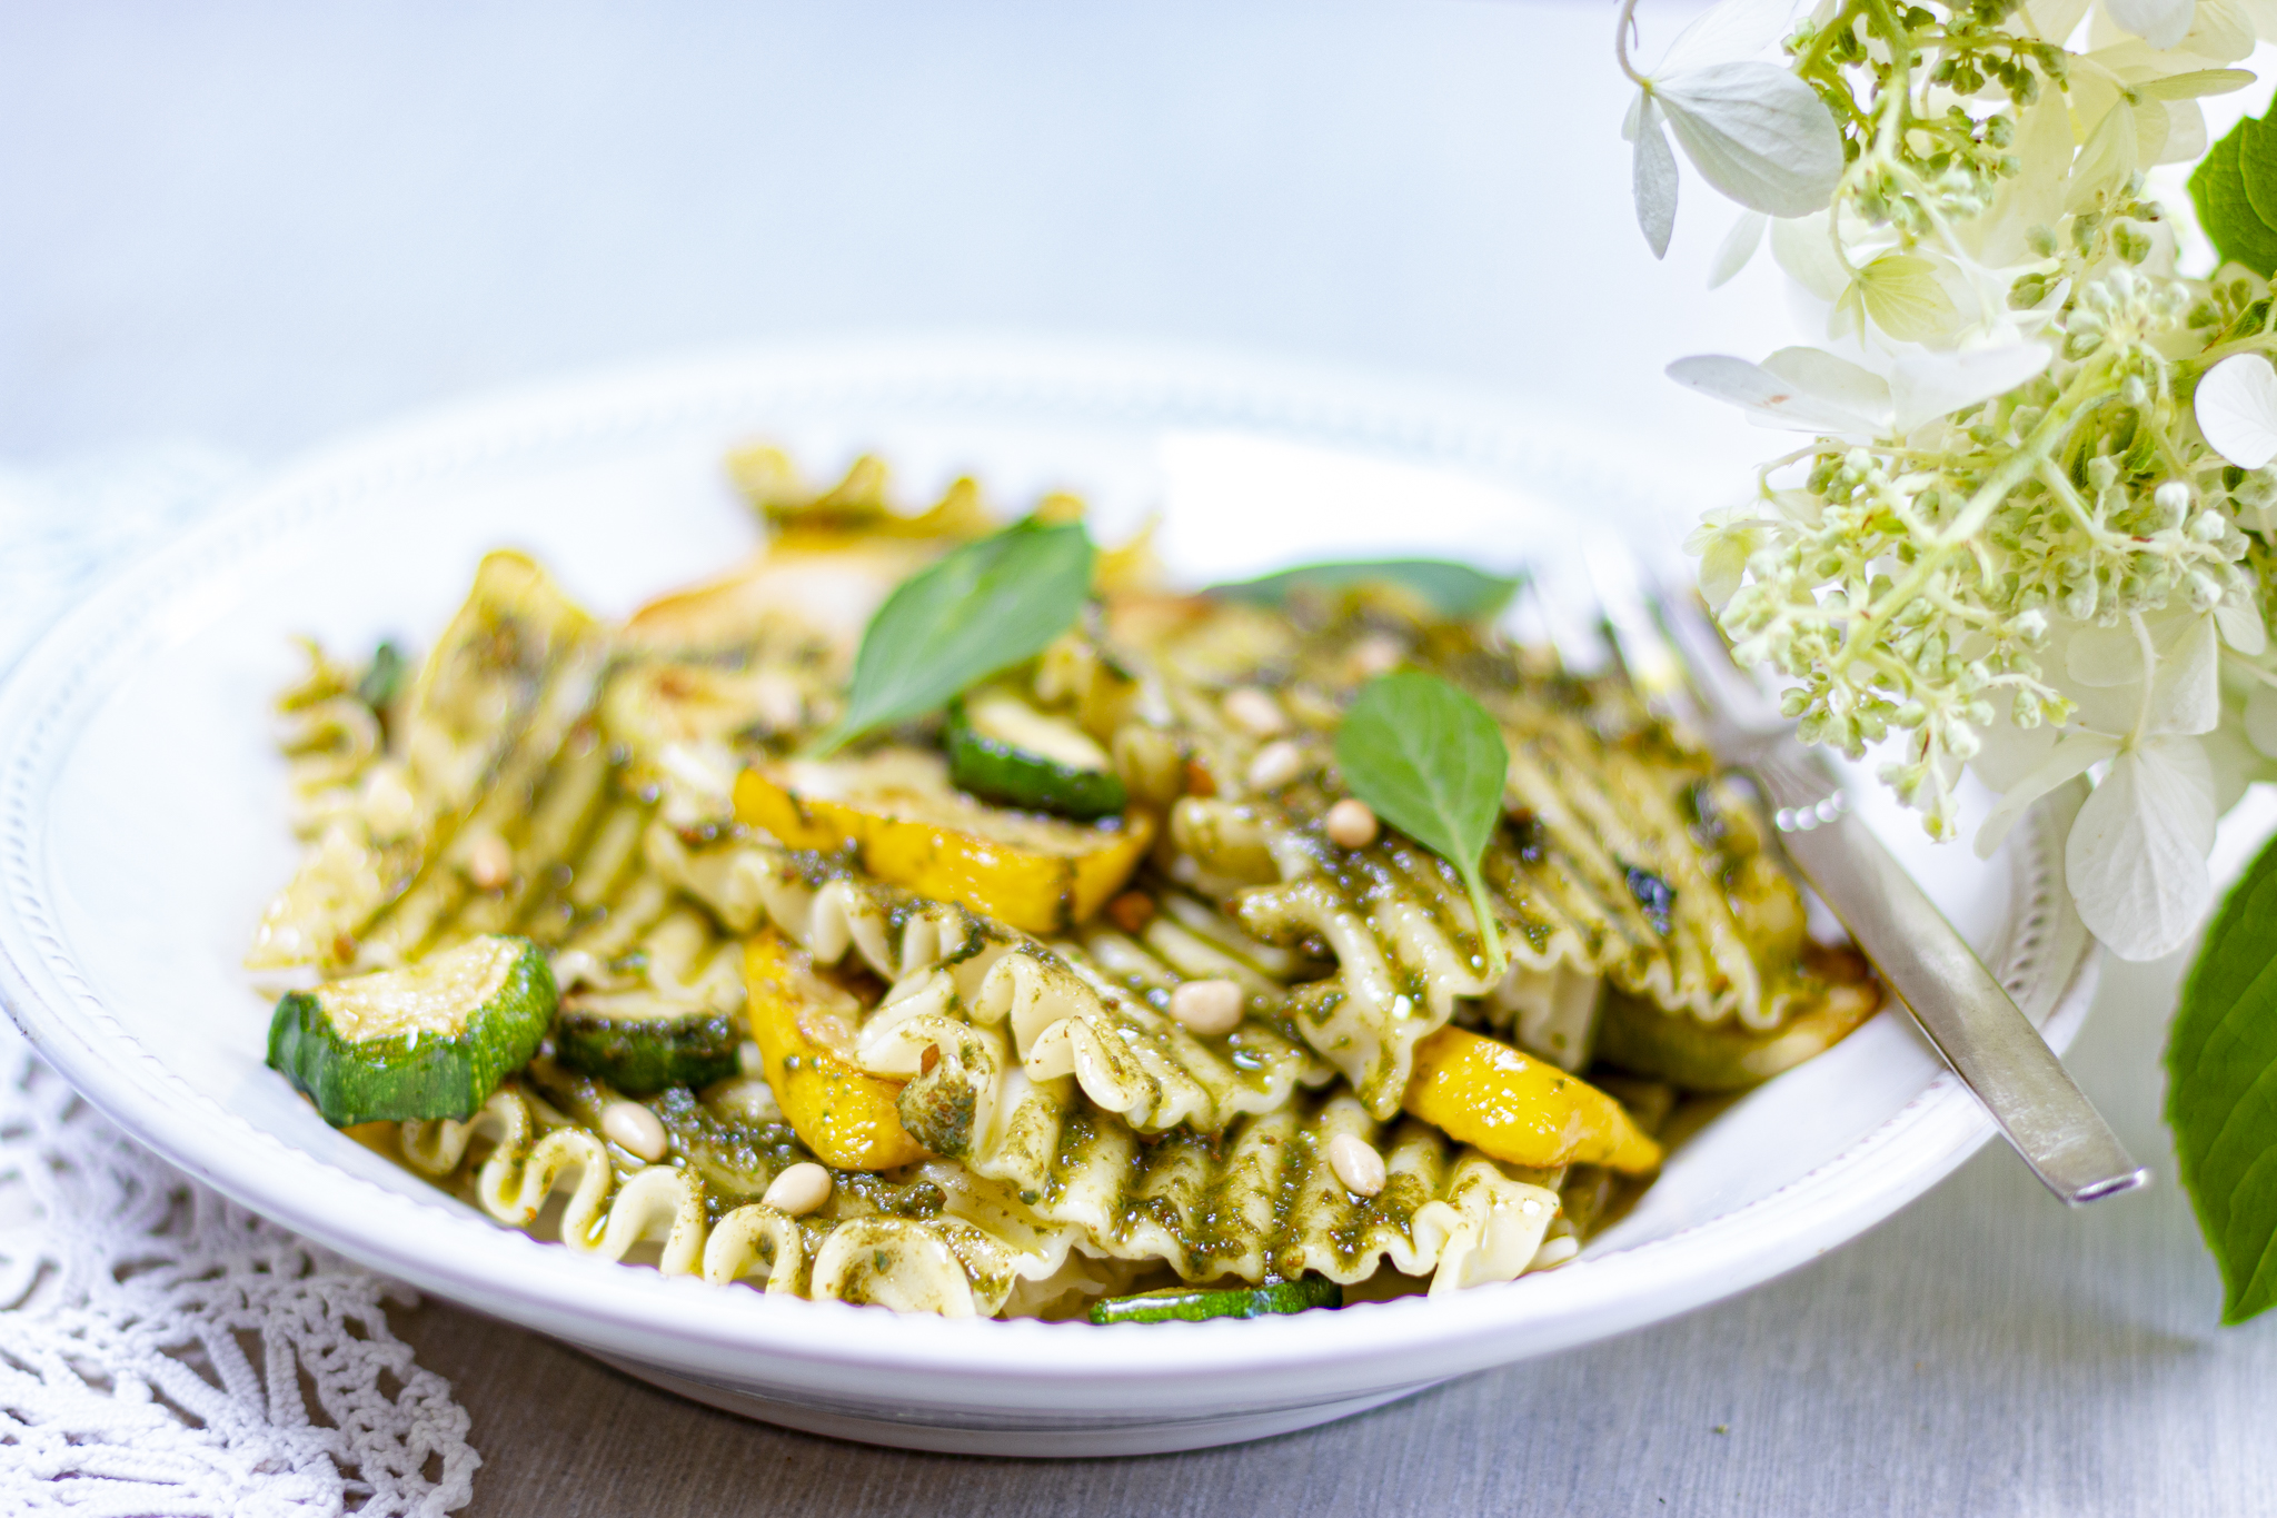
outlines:
[[[1660,1145],[1619,1102],[1548,1061],[1466,1029],[1439,1029],[1416,1045],[1403,1106],[1510,1165],[1660,1168]]]

